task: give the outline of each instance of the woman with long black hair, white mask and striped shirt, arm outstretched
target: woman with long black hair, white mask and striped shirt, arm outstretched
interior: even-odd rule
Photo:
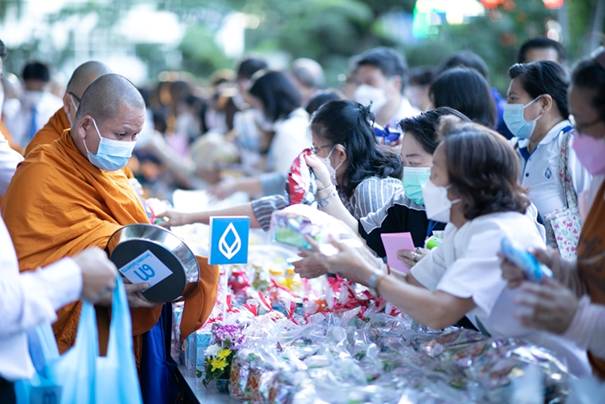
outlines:
[[[331,101],[311,120],[315,156],[307,159],[317,175],[319,204],[326,191],[339,196],[341,206],[353,220],[382,208],[401,191],[399,158],[379,148],[368,108],[352,101]],[[172,226],[209,221],[210,216],[246,215],[252,226],[269,229],[274,211],[288,206],[284,195],[272,195],[227,210],[198,213],[167,212]]]

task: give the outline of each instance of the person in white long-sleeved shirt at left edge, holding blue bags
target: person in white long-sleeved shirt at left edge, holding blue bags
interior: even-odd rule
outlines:
[[[56,310],[80,298],[106,301],[115,276],[115,266],[99,248],[20,274],[13,243],[0,218],[0,402],[14,402],[13,382],[34,373],[27,331],[54,321]]]

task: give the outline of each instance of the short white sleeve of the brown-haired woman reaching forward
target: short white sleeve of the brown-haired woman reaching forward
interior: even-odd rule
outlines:
[[[472,298],[489,315],[505,288],[497,253],[504,233],[500,229],[477,231],[468,248],[450,265],[437,289],[460,298]]]

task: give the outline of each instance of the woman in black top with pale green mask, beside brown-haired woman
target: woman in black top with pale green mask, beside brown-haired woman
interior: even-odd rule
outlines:
[[[342,202],[334,198],[323,209],[332,216],[347,223],[366,241],[378,256],[385,257],[382,244],[383,233],[410,232],[414,245],[423,247],[427,237],[433,230],[443,230],[445,224],[429,220],[426,217],[422,187],[429,179],[433,164],[433,153],[441,141],[437,133],[439,121],[443,116],[455,116],[462,121],[468,121],[460,112],[451,108],[437,108],[413,118],[406,118],[399,123],[404,133],[401,161],[403,163],[403,190],[397,192],[379,210],[360,219],[355,219],[346,210]],[[321,165],[309,159],[314,165],[313,170],[319,177],[326,177]],[[303,263],[299,269],[303,271]],[[304,267],[319,275],[322,271],[315,268],[311,262]],[[325,272],[324,272],[325,273]],[[307,275],[307,273],[305,273]]]

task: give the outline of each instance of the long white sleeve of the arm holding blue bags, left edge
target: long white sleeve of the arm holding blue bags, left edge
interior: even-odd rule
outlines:
[[[80,268],[70,258],[35,272],[0,271],[0,338],[54,321],[55,311],[78,300],[82,290]]]

